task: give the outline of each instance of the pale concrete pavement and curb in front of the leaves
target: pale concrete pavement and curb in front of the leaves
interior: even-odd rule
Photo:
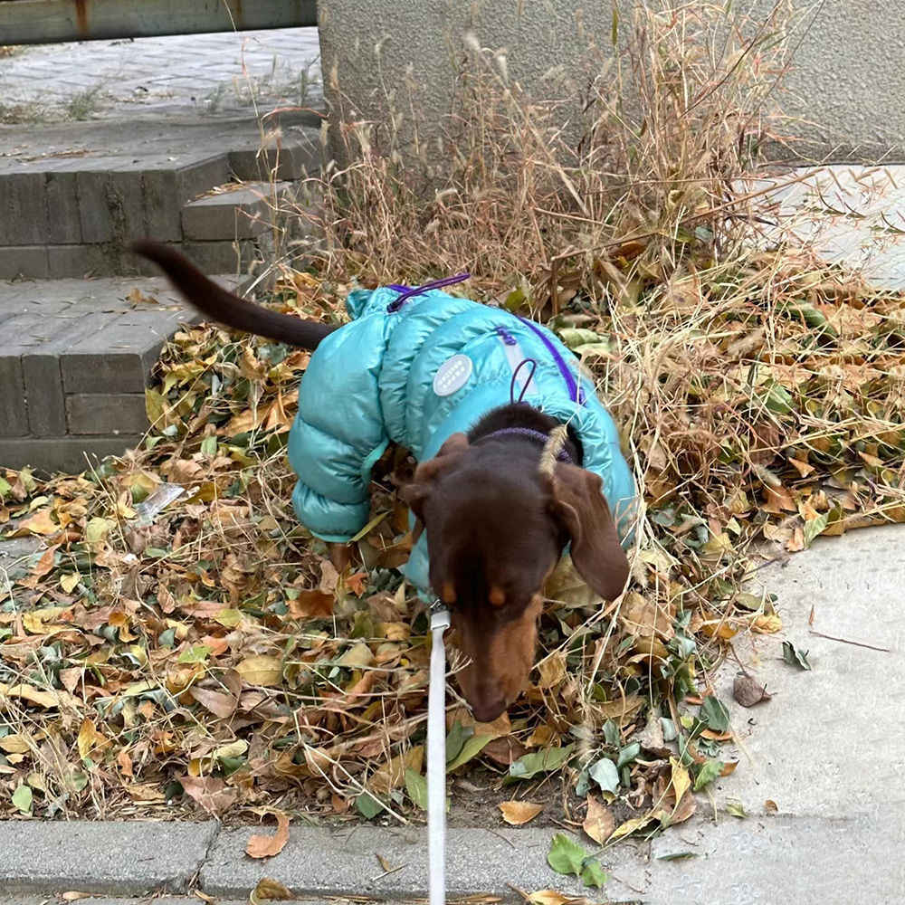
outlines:
[[[729,704],[740,763],[701,795],[691,821],[601,855],[605,890],[582,888],[546,862],[556,828],[450,831],[450,897],[521,900],[555,889],[650,905],[880,905],[905,896],[905,528],[818,538],[758,573],[779,595],[784,630],[736,638],[741,662],[773,699],[732,701],[738,666],[714,678]],[[814,611],[813,626],[809,617]],[[820,634],[817,634],[820,633]],[[828,637],[827,637],[828,636]],[[810,672],[782,659],[787,639]],[[731,703],[730,703],[731,702]],[[727,752],[729,754],[730,752]],[[767,801],[775,805],[767,805]],[[731,816],[729,803],[747,816]],[[251,828],[218,824],[0,824],[0,889],[23,896],[91,891],[135,896],[197,889],[246,899],[262,877],[303,899],[423,897],[423,826],[295,825],[277,857],[244,855]],[[591,851],[586,839],[579,840]],[[386,872],[377,856],[394,870]],[[23,898],[15,899],[24,902]]]

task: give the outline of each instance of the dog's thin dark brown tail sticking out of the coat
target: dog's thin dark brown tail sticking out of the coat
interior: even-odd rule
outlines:
[[[208,280],[195,264],[168,245],[143,239],[132,250],[156,263],[197,310],[226,327],[308,349],[318,348],[320,340],[337,329],[244,301]]]

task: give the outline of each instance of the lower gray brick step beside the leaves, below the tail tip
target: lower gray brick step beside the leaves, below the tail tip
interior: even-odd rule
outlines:
[[[139,443],[160,348],[196,319],[162,277],[0,282],[0,466],[80,472]]]

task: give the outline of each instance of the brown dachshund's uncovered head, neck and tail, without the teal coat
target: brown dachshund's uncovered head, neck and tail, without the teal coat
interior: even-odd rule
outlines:
[[[166,245],[142,242],[135,250],[227,327],[308,349],[341,329],[243,301]],[[427,534],[433,593],[450,606],[455,643],[471,661],[458,679],[481,722],[500,716],[529,679],[544,584],[567,544],[578,573],[606,600],[620,595],[628,578],[601,480],[579,467],[577,436],[569,431],[565,440],[577,464],[538,467],[543,442],[536,434],[557,424],[526,403],[493,409],[421,462],[402,491],[416,531]],[[497,433],[512,427],[527,432]]]

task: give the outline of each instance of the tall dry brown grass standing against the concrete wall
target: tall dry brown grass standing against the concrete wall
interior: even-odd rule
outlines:
[[[658,279],[688,257],[696,229],[719,233],[704,243],[727,253],[738,238],[729,185],[778,138],[791,18],[784,4],[760,24],[730,21],[721,5],[639,5],[615,56],[609,23],[588,35],[580,98],[576,82],[550,80],[537,100],[472,39],[439,150],[420,137],[404,86],[383,116],[338,127],[348,166],[325,179],[327,272],[468,270],[497,291],[529,288],[540,308],[557,285],[599,300],[612,243],[630,236]]]

